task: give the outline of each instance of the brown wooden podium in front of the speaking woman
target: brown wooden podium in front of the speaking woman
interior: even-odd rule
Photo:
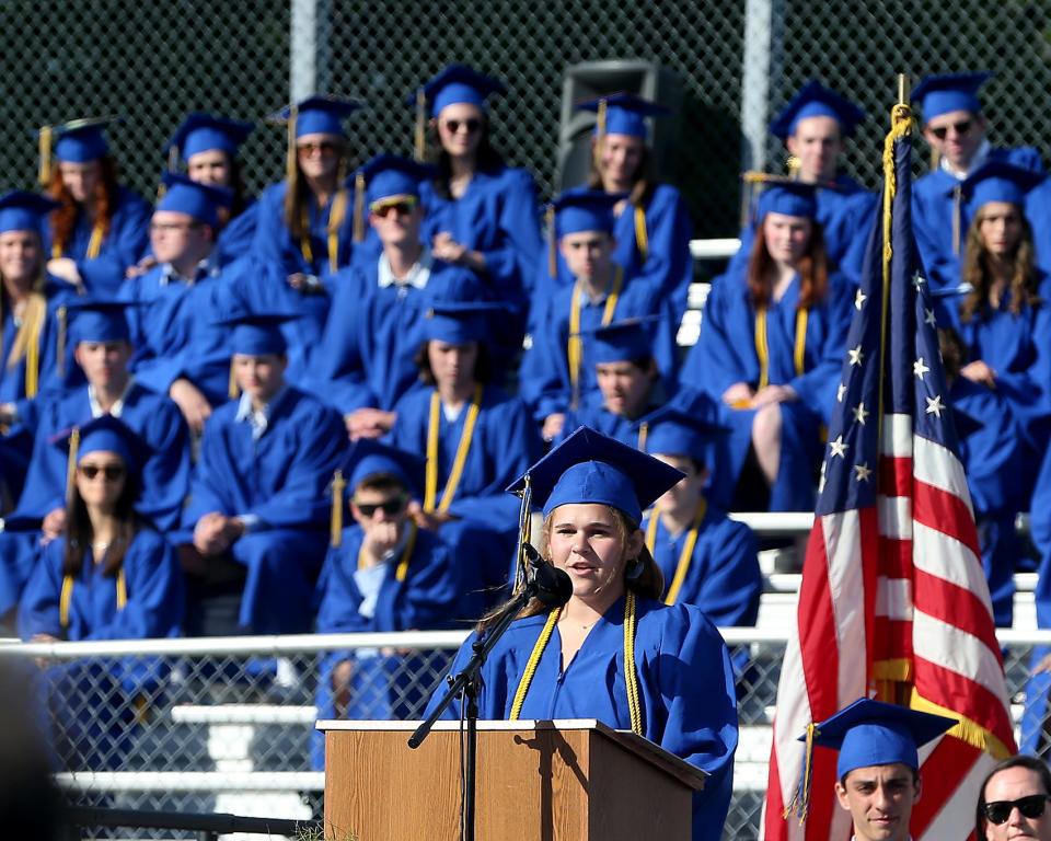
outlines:
[[[460,838],[459,722],[319,722],[326,841]],[[464,738],[465,735],[464,735]],[[703,771],[593,719],[478,722],[477,841],[690,839]]]

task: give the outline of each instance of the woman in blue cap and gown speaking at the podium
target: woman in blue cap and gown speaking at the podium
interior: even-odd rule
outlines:
[[[542,508],[541,565],[568,576],[568,600],[532,600],[481,672],[485,719],[597,718],[634,733],[711,776],[695,795],[693,839],[718,839],[732,787],[737,704],[726,645],[692,606],[666,606],[663,579],[639,530],[642,511],[682,474],[580,427],[510,488]],[[463,644],[513,609],[497,608]],[[440,693],[439,693],[440,694]],[[437,699],[431,701],[431,708]],[[459,717],[459,704],[449,715]]]

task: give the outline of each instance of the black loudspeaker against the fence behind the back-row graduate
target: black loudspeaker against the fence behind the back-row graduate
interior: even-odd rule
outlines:
[[[649,147],[654,175],[658,181],[674,181],[674,150],[682,106],[679,77],[666,67],[640,59],[585,61],[566,68],[562,83],[562,120],[555,168],[555,185],[559,191],[584,184],[591,168],[596,114],[576,111],[576,104],[620,92],[635,93],[669,110],[666,116],[649,118]]]

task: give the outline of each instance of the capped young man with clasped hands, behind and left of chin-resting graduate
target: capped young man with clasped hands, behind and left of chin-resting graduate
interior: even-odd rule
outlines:
[[[287,634],[312,624],[325,488],[346,434],[332,408],[286,382],[286,318],[224,320],[241,396],[208,419],[183,512],[192,634]]]

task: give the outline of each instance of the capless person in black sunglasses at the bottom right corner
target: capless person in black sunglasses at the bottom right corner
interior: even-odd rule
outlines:
[[[1000,762],[982,783],[974,815],[974,837],[981,841],[1030,838],[1051,841],[1051,771],[1037,757],[1017,756]]]

